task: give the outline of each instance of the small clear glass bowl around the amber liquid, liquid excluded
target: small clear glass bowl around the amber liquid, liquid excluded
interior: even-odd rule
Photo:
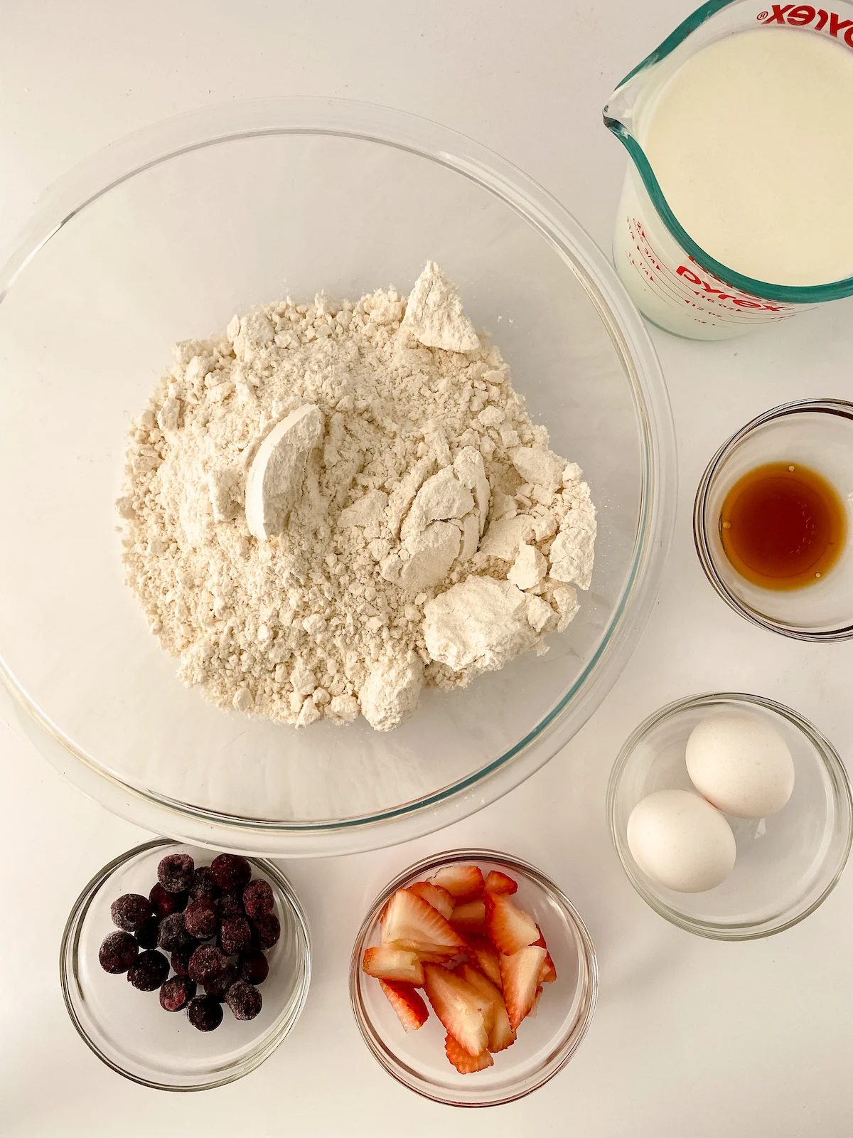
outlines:
[[[847,541],[820,582],[773,591],[734,568],[720,536],[726,496],[747,471],[767,462],[811,467],[835,487],[847,514]],[[765,411],[723,443],[702,476],[693,512],[696,552],[705,576],[735,612],[762,628],[804,641],[853,636],[853,403],[802,399]]]

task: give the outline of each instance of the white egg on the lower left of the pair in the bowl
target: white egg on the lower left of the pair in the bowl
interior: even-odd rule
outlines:
[[[703,893],[735,866],[735,835],[710,802],[688,790],[659,790],[628,818],[628,848],[644,873],[679,893]]]

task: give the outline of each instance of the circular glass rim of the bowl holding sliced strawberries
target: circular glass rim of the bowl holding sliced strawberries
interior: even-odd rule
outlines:
[[[384,907],[391,894],[399,889],[403,883],[415,874],[420,877],[422,874],[431,873],[436,869],[441,868],[442,865],[447,865],[449,861],[497,861],[500,865],[506,866],[508,869],[515,873],[522,874],[529,879],[529,881],[541,889],[549,898],[560,906],[563,910],[566,924],[573,927],[578,940],[582,947],[583,958],[587,966],[587,983],[585,991],[582,992],[581,1004],[578,1008],[578,1019],[570,1028],[563,1042],[560,1047],[560,1058],[553,1070],[548,1070],[538,1081],[531,1087],[525,1087],[523,1090],[513,1091],[496,1098],[494,1102],[470,1102],[470,1103],[458,1103],[453,1098],[441,1095],[431,1094],[426,1085],[426,1080],[419,1080],[420,1085],[407,1081],[398,1071],[398,1064],[386,1058],[384,1049],[379,1047],[374,1039],[374,1030],[370,1016],[364,1008],[364,1001],[361,996],[361,979],[362,979],[362,953],[365,947],[365,940],[367,934],[376,921],[379,914]],[[408,1090],[413,1090],[416,1095],[421,1095],[423,1098],[429,1098],[434,1103],[441,1103],[446,1106],[458,1106],[463,1108],[479,1110],[481,1107],[489,1106],[504,1106],[506,1103],[516,1102],[520,1098],[525,1098],[528,1095],[532,1095],[535,1090],[544,1087],[545,1083],[550,1082],[554,1075],[558,1074],[572,1058],[574,1053],[578,1050],[580,1045],[589,1031],[589,1026],[593,1022],[593,1016],[595,1014],[596,1004],[598,1000],[598,958],[596,956],[595,946],[593,945],[593,939],[589,935],[589,930],[587,929],[583,918],[578,913],[575,907],[565,896],[565,893],[560,889],[557,884],[541,869],[537,869],[536,866],[531,865],[529,861],[524,861],[521,858],[513,857],[510,853],[504,853],[500,850],[491,849],[453,849],[444,850],[440,853],[433,853],[429,857],[422,858],[420,861],[415,861],[413,865],[403,869],[397,876],[376,896],[373,904],[367,910],[362,925],[356,934],[355,943],[353,946],[353,955],[349,960],[349,1004],[353,1011],[353,1016],[355,1017],[356,1024],[361,1032],[362,1039],[367,1045],[367,1050],[373,1055],[379,1065],[388,1072],[394,1079],[397,1080],[401,1086],[406,1087]],[[392,1057],[394,1058],[394,1057]]]

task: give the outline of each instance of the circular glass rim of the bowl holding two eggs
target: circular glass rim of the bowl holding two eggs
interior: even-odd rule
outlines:
[[[781,920],[776,920],[775,923],[762,921],[760,923],[748,922],[744,924],[723,925],[712,921],[693,921],[689,917],[684,916],[684,914],[662,901],[660,897],[648,889],[645,882],[633,872],[624,852],[627,840],[622,841],[616,831],[616,793],[619,791],[619,784],[622,780],[622,775],[624,774],[624,769],[637,749],[637,745],[661,723],[665,719],[672,718],[681,711],[703,706],[722,703],[748,704],[751,707],[759,707],[773,711],[805,735],[806,740],[817,751],[823,767],[827,770],[827,774],[829,775],[835,798],[846,807],[845,813],[847,823],[846,835],[843,838],[844,848],[831,880],[823,888],[820,896],[811,901],[804,909],[802,909],[802,912],[795,912],[793,915],[784,916]],[[786,929],[792,929],[794,925],[800,924],[801,921],[804,921],[823,904],[827,897],[829,897],[835,887],[838,884],[847,864],[847,858],[850,857],[851,844],[853,843],[853,792],[851,791],[850,776],[847,775],[844,762],[842,761],[842,758],[835,747],[833,747],[826,735],[819,731],[814,724],[810,723],[797,711],[794,711],[793,708],[786,707],[784,703],[779,703],[776,700],[768,699],[764,695],[753,695],[748,692],[702,692],[697,695],[685,695],[681,699],[673,700],[671,703],[666,703],[664,707],[659,708],[656,711],[653,711],[649,716],[647,716],[637,727],[635,727],[620,748],[607,781],[606,810],[607,825],[610,827],[613,847],[616,851],[619,860],[622,864],[626,876],[643,900],[646,901],[646,904],[649,905],[655,913],[664,917],[671,924],[677,925],[679,929],[684,929],[686,932],[695,933],[697,937],[705,937],[709,940],[729,942],[762,940],[765,937],[773,937],[776,933],[785,932]]]

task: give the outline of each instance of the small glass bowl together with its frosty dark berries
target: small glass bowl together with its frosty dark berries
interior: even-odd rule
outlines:
[[[108,1066],[159,1090],[206,1090],[248,1074],[292,1029],[310,941],[270,861],[158,839],[89,882],[59,967],[72,1022]]]

